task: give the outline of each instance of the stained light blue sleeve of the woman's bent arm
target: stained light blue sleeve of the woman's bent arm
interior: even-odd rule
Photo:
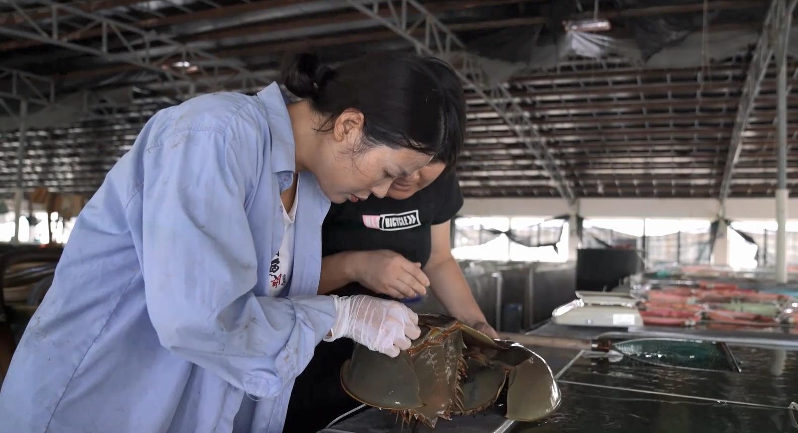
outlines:
[[[252,292],[258,261],[244,203],[255,150],[233,141],[189,130],[145,157],[144,290],[164,348],[269,398],[310,362],[335,311],[329,296]]]

